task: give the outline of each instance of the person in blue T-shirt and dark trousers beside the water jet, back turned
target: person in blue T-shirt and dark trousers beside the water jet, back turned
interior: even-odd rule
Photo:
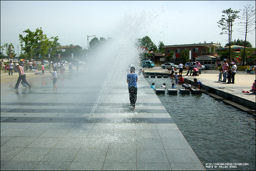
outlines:
[[[128,83],[128,90],[129,90],[129,99],[132,109],[135,109],[135,103],[137,100],[137,82],[138,82],[138,75],[135,73],[135,68],[132,66],[130,69],[130,73],[127,74],[126,82]]]

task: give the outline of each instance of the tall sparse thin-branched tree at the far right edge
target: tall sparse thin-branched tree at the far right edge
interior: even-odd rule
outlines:
[[[244,54],[242,57],[242,66],[244,66],[247,33],[252,33],[253,31],[255,31],[255,9],[254,7],[251,7],[251,4],[247,4],[246,6],[244,6],[244,9],[240,9],[240,11],[243,12],[242,16],[240,17],[242,22],[239,22],[238,25],[242,27],[238,28],[237,31],[241,32],[242,35],[245,35]]]

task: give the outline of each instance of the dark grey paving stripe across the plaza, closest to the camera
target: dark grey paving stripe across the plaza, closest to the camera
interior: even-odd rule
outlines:
[[[172,118],[47,118],[47,117],[1,117],[1,122],[21,123],[174,123]]]

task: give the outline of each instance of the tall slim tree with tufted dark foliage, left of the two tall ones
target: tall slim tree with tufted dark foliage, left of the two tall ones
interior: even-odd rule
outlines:
[[[230,48],[230,42],[232,39],[232,26],[233,26],[233,22],[235,21],[236,18],[238,18],[238,13],[240,11],[233,11],[231,8],[223,10],[222,13],[224,13],[225,15],[222,15],[222,18],[217,22],[219,25],[218,27],[220,27],[222,29],[222,32],[220,34],[227,34],[229,36],[229,65],[230,65],[230,61],[231,61],[231,48]],[[224,31],[223,31],[224,30]]]

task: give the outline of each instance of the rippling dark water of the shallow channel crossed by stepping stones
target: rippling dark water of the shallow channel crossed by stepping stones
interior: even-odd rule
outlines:
[[[155,83],[156,88],[166,83],[165,95],[157,96],[206,170],[255,170],[256,125],[253,115],[204,93],[180,94],[181,84],[170,78],[146,80],[150,86]],[[167,94],[172,83],[178,89],[177,95]],[[207,168],[207,163],[217,167]],[[223,163],[236,164],[236,168],[224,168]]]

